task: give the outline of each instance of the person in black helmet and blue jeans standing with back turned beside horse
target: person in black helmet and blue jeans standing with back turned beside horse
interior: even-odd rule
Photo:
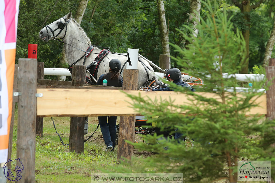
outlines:
[[[121,62],[118,59],[111,59],[109,62],[109,68],[110,69],[107,74],[102,74],[99,76],[97,85],[103,85],[103,80],[106,79],[107,86],[122,87],[123,79],[119,75]],[[98,116],[97,118],[105,145],[107,146],[105,151],[113,151],[115,148],[117,116]]]

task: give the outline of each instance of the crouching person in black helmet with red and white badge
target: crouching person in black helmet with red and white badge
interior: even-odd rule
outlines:
[[[192,92],[195,92],[195,89],[191,88],[188,83],[181,80],[181,72],[178,68],[170,68],[166,71],[165,75],[168,81],[176,83],[176,85],[180,85],[182,87],[188,87]],[[152,89],[152,91],[173,91],[170,87]]]

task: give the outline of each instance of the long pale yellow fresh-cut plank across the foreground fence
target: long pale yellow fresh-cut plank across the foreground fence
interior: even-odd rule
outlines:
[[[178,92],[147,92],[124,91],[126,94],[143,98],[160,100],[175,100],[175,105],[192,105],[188,100],[190,96]],[[43,97],[37,98],[38,116],[122,116],[138,114],[130,104],[132,100],[121,90],[106,89],[37,89],[37,93],[43,93]],[[219,96],[212,93],[197,92],[208,98]],[[239,94],[239,97],[242,95]],[[113,100],[115,98],[115,100]],[[266,94],[256,100],[259,107],[252,108],[246,115],[266,115]],[[156,102],[156,104],[158,104]]]

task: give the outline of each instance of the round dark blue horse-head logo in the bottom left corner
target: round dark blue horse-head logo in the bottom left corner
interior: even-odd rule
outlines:
[[[11,167],[15,165],[15,169],[12,169],[11,167],[7,166],[7,163],[11,162]],[[11,171],[13,170],[13,171]],[[24,170],[24,166],[20,161],[20,158],[18,159],[9,159],[4,165],[4,172],[5,172],[5,177],[7,180],[10,181],[17,181],[20,180],[22,177],[22,170]]]

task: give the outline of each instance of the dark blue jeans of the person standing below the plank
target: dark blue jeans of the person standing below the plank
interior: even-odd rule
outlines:
[[[106,146],[112,145],[115,148],[117,116],[98,116],[97,118]]]

